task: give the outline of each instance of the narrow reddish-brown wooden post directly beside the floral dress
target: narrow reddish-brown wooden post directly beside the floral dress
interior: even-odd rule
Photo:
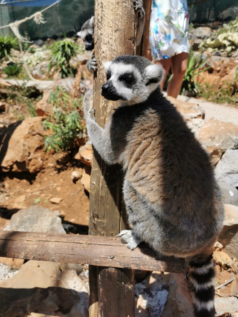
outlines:
[[[144,57],[147,57],[147,49],[149,45],[149,22],[151,14],[151,4],[152,0],[143,0],[143,8],[145,10],[145,25],[141,39],[141,44],[138,45],[136,48],[136,55],[141,55]]]

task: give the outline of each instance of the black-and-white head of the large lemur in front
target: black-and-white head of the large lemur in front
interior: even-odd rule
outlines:
[[[108,100],[120,100],[120,105],[145,101],[160,85],[164,75],[162,66],[153,65],[142,56],[123,55],[103,66],[107,70],[107,82],[102,86],[101,94]]]

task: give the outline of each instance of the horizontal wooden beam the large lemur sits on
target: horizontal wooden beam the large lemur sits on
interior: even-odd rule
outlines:
[[[0,256],[161,272],[184,270],[182,258],[158,256],[147,245],[131,251],[121,238],[104,236],[0,231]]]

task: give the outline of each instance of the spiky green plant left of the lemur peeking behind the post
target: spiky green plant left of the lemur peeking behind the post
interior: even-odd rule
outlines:
[[[50,70],[54,67],[55,71],[60,72],[62,77],[75,75],[76,68],[72,67],[69,61],[78,53],[82,53],[83,48],[76,44],[73,40],[68,41],[67,39],[64,39],[62,41],[55,42],[51,46],[51,49],[52,54],[50,57],[48,71],[50,72]]]

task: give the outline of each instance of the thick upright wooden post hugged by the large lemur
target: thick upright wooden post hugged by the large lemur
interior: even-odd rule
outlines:
[[[115,102],[101,96],[101,87],[106,82],[106,71],[102,63],[119,55],[135,55],[136,27],[137,16],[132,0],[95,1],[94,42],[98,70],[94,80],[94,108],[96,122],[102,127],[116,107]],[[89,234],[115,236],[126,229],[121,169],[119,166],[108,166],[93,152]],[[133,270],[90,267],[89,288],[90,317],[134,316]]]

